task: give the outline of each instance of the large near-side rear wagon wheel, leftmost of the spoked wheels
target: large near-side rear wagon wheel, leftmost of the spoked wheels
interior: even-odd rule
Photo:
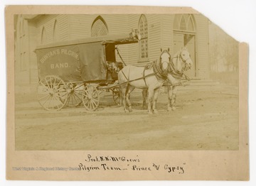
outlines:
[[[68,100],[65,82],[55,75],[48,75],[38,82],[38,102],[46,110],[60,110]]]

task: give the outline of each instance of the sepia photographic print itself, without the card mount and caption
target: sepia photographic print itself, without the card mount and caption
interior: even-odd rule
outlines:
[[[15,149],[238,150],[238,41],[200,13],[20,14]]]

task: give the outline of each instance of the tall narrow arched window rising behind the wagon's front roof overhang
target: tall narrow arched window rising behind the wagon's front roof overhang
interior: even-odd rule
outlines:
[[[139,18],[139,33],[141,40],[139,40],[139,60],[148,60],[149,58],[149,45],[148,45],[148,26],[146,16],[142,15]]]

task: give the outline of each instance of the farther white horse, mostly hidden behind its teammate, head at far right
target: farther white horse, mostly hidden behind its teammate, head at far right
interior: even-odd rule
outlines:
[[[168,93],[168,104],[167,110],[175,110],[176,104],[176,94],[178,85],[181,84],[181,78],[183,77],[183,72],[189,70],[193,62],[191,60],[191,55],[188,53],[188,49],[186,47],[181,48],[175,55],[174,58],[171,58],[171,63],[169,64],[169,73],[170,77],[168,78],[167,93]],[[143,107],[146,106],[146,89],[142,91],[143,97]]]

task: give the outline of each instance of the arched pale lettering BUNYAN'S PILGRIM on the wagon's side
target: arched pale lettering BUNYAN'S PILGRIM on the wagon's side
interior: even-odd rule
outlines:
[[[68,49],[55,49],[55,50],[51,50],[48,53],[46,53],[45,55],[43,55],[43,57],[40,59],[40,62],[46,62],[46,60],[48,60],[49,58],[55,56],[55,55],[68,55],[71,56],[73,58],[75,58],[76,60],[78,60],[78,53],[75,53],[72,50],[68,50]],[[65,66],[64,66],[65,67]]]

